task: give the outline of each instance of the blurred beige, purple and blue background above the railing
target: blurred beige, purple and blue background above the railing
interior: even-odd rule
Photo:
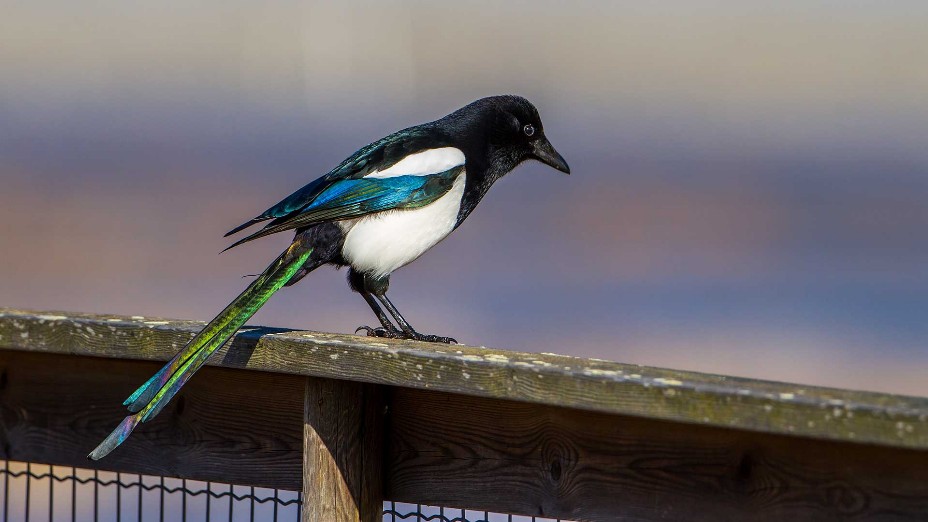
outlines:
[[[210,319],[222,234],[393,130],[541,111],[393,276],[467,344],[928,395],[928,3],[6,2],[0,306]],[[323,269],[252,320],[375,322]]]

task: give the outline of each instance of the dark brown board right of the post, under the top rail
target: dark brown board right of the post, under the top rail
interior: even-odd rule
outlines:
[[[928,520],[928,452],[397,388],[388,498],[568,520]]]

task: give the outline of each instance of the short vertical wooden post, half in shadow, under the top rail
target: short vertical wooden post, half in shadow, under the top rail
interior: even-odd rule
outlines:
[[[303,522],[381,520],[382,390],[373,384],[306,379]]]

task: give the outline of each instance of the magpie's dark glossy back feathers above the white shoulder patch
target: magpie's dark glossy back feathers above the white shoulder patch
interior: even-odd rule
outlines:
[[[395,132],[361,148],[326,175],[290,194],[273,207],[265,210],[261,215],[226,232],[225,236],[231,236],[269,219],[282,219],[299,213],[333,183],[341,180],[363,178],[375,170],[387,169],[409,154],[424,150],[429,146],[435,146],[435,143],[435,132],[429,124]]]

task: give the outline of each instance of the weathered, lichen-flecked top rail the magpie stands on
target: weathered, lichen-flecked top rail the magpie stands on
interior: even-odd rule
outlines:
[[[193,321],[0,309],[0,348],[160,361],[201,327]],[[210,364],[928,449],[925,398],[266,328],[246,328]]]

